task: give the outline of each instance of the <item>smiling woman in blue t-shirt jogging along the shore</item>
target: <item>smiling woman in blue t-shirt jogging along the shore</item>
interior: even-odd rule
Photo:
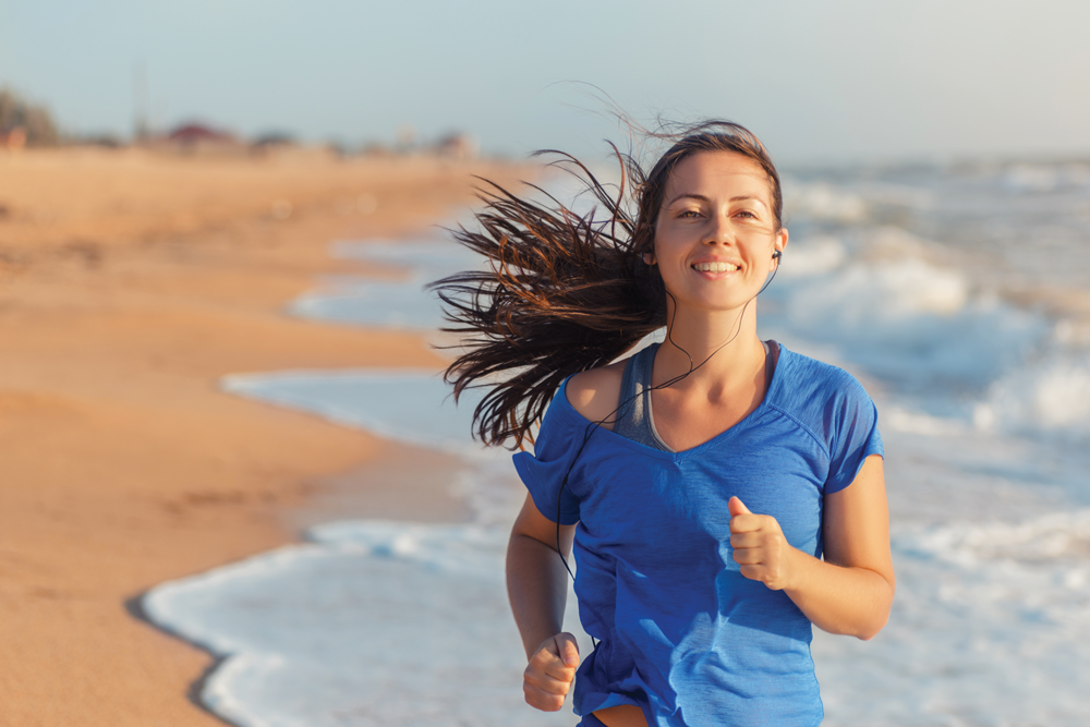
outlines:
[[[877,414],[758,336],[788,242],[764,146],[730,122],[674,141],[649,173],[618,154],[616,189],[565,157],[604,216],[496,187],[456,234],[491,269],[436,283],[470,334],[448,380],[488,388],[477,436],[534,446],[507,559],[523,690],[556,711],[574,684],[584,726],[818,725],[811,625],[871,639],[893,602]]]

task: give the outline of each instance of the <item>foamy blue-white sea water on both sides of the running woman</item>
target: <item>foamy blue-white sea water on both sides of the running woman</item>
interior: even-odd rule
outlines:
[[[825,724],[1090,723],[1090,165],[796,170],[785,197],[761,332],[877,402],[898,577],[873,641],[815,631]],[[334,253],[404,275],[324,281],[292,314],[433,330],[422,282],[476,264],[439,235]],[[153,620],[222,657],[209,708],[247,726],[574,724],[522,704],[501,564],[523,490],[506,452],[471,443],[473,402],[452,407],[432,371],[223,387],[458,455],[450,486],[475,517],[329,523],[154,589]]]

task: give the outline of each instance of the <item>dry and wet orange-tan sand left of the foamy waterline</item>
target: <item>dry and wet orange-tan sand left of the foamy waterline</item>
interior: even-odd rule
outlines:
[[[283,306],[320,274],[366,272],[330,259],[329,241],[444,219],[469,203],[471,173],[528,170],[302,152],[0,155],[0,725],[222,724],[194,698],[211,657],[143,621],[141,593],[322,520],[464,517],[436,476],[441,456],[217,381],[441,366],[416,335]],[[405,459],[415,473],[391,464]]]

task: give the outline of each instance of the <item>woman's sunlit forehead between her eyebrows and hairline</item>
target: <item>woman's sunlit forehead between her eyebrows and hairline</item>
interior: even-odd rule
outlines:
[[[760,163],[736,152],[698,152],[679,161],[666,181],[664,204],[679,194],[748,195],[772,206],[772,182]]]

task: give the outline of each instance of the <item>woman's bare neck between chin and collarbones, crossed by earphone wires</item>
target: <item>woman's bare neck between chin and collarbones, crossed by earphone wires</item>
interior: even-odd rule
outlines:
[[[671,388],[730,387],[764,366],[755,300],[736,311],[675,308],[673,301],[668,305],[670,325],[655,358],[656,379],[681,376],[690,369],[690,358],[695,371]]]

